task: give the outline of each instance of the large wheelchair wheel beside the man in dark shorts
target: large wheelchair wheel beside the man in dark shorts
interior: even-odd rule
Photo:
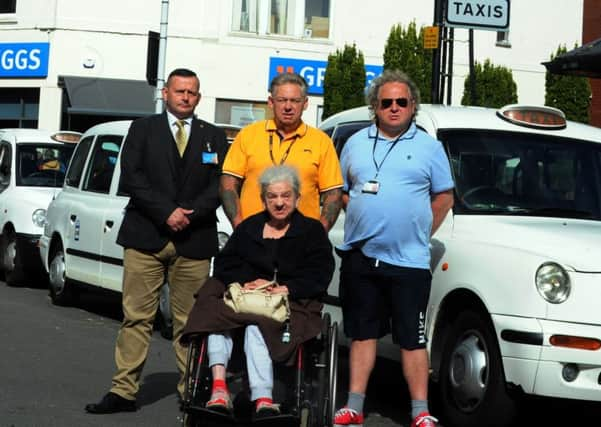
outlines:
[[[315,357],[311,381],[311,409],[301,414],[301,426],[328,427],[332,425],[336,405],[338,371],[338,325],[332,324],[330,315],[322,317],[318,354]]]

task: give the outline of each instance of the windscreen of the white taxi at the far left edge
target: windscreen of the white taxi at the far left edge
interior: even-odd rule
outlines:
[[[19,144],[16,184],[26,187],[62,187],[75,144]]]

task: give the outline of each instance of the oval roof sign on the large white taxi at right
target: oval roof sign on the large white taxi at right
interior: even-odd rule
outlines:
[[[567,125],[563,111],[553,107],[511,104],[500,108],[497,115],[513,124],[536,129],[564,129]]]

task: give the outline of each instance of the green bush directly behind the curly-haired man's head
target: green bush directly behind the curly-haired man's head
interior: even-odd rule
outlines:
[[[419,33],[415,22],[407,29],[398,24],[392,27],[384,47],[384,69],[401,70],[419,88],[421,101],[432,99],[432,49],[424,49],[423,27]]]

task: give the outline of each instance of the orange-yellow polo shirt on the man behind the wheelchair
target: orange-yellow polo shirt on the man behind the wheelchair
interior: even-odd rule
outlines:
[[[264,209],[259,176],[268,167],[283,163],[296,167],[299,173],[298,209],[308,217],[319,219],[319,193],[341,188],[343,184],[334,144],[324,132],[305,123],[282,141],[276,130],[273,120],[246,126],[236,136],[223,162],[223,173],[243,179],[242,218]]]

